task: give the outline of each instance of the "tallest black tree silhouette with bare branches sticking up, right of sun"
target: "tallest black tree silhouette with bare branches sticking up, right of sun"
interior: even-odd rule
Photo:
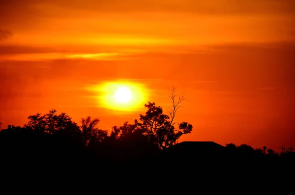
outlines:
[[[183,134],[192,132],[192,125],[187,122],[180,124],[174,122],[178,108],[181,107],[181,102],[184,96],[180,94],[176,98],[175,87],[171,91],[172,109],[169,115],[163,113],[162,107],[157,107],[155,103],[148,102],[145,108],[148,109],[145,114],[140,114],[140,122],[135,120],[133,124],[125,122],[123,126],[114,126],[110,135],[111,139],[149,142],[156,145],[159,149],[171,147],[177,143]],[[178,127],[176,127],[178,125]]]

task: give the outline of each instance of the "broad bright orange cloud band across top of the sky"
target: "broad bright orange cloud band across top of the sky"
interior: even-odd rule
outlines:
[[[138,46],[153,51],[159,46],[295,40],[294,2],[4,0],[0,19],[5,29],[15,32],[7,44]]]

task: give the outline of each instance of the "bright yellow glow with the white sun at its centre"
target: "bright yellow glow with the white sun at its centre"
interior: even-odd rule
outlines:
[[[108,82],[96,85],[99,107],[117,111],[136,111],[147,103],[148,89],[132,82]]]

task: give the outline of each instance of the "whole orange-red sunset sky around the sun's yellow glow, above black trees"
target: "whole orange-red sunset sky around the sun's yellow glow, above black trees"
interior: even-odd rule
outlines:
[[[111,130],[144,108],[108,110],[87,88],[123,79],[164,108],[169,87],[185,93],[181,140],[278,152],[295,145],[294,34],[294,0],[2,0],[0,122],[57,109]]]

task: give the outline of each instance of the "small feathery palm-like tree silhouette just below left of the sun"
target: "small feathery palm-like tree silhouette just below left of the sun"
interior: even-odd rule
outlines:
[[[98,129],[96,126],[99,123],[98,118],[91,119],[90,116],[81,118],[81,130],[85,146],[89,145],[90,141],[101,141],[108,136],[108,132]]]

